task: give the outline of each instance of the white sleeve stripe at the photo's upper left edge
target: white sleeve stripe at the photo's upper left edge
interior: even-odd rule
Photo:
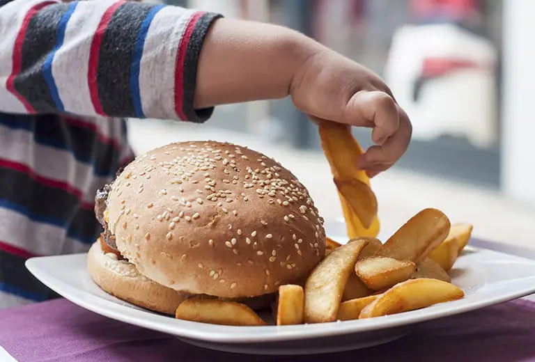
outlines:
[[[13,47],[26,13],[45,0],[17,0],[0,8],[0,112],[27,113],[13,93],[6,88],[6,81],[13,72]]]

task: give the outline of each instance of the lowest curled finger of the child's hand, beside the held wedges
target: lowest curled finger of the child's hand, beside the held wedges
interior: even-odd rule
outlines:
[[[359,168],[365,170],[370,177],[395,164],[409,146],[412,136],[412,125],[409,117],[398,105],[396,105],[396,112],[398,114],[396,131],[384,143],[368,148],[359,159]]]

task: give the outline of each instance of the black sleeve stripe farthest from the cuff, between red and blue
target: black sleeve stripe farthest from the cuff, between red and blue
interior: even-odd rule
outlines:
[[[46,6],[34,15],[22,43],[21,70],[13,82],[15,90],[40,113],[56,111],[42,65],[56,47],[58,24],[68,8],[60,3]]]

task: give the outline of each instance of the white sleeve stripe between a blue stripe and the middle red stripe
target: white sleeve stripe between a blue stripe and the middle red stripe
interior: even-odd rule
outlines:
[[[52,63],[52,74],[65,111],[95,116],[87,79],[89,51],[102,15],[114,3],[112,0],[80,1],[69,19],[63,46]]]

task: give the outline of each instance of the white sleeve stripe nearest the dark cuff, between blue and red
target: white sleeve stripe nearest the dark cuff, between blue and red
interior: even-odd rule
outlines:
[[[160,10],[148,29],[139,87],[141,104],[150,118],[176,119],[175,64],[180,39],[195,12],[167,6]]]

